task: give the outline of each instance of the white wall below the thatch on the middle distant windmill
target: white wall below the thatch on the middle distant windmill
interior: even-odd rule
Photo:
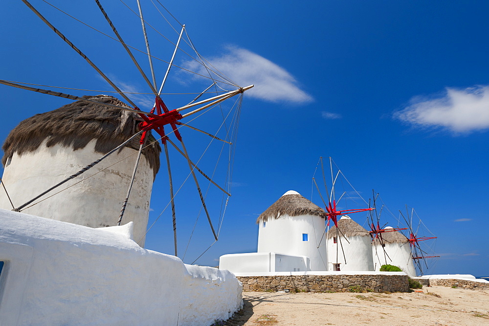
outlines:
[[[347,237],[348,241],[341,234],[339,237],[337,237],[337,243],[333,242],[333,238],[328,239],[328,268],[330,271],[333,271],[335,263],[340,264],[340,271],[374,271],[370,235]],[[341,250],[342,247],[343,250]]]

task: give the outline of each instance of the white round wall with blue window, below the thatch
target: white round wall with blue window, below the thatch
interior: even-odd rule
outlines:
[[[324,218],[309,214],[268,219],[266,226],[261,222],[258,229],[258,252],[307,256],[311,259],[311,271],[326,271],[326,235],[320,243],[324,226]],[[302,240],[303,233],[308,234],[308,241]]]

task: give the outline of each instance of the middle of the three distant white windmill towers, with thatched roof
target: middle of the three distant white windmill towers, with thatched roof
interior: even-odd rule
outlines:
[[[370,233],[350,217],[342,216],[338,228],[333,225],[328,231],[327,239],[330,271],[374,270]]]

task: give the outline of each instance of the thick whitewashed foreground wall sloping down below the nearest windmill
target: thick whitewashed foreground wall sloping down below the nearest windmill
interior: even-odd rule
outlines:
[[[209,325],[242,304],[241,283],[225,271],[186,267],[123,234],[7,210],[0,260],[1,325]],[[205,316],[188,313],[198,306]]]

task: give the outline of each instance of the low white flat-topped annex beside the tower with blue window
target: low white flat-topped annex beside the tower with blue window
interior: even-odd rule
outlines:
[[[276,253],[228,254],[219,257],[219,269],[232,273],[307,271],[310,259]]]

